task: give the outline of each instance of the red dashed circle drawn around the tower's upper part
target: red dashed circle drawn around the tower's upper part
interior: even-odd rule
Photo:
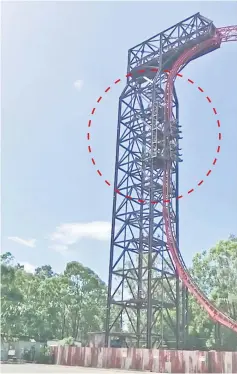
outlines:
[[[150,71],[157,72],[158,69],[152,68],[152,69],[150,69]],[[145,72],[144,69],[138,71],[138,73],[144,73],[144,72]],[[164,72],[169,73],[169,70],[164,70]],[[132,76],[132,74],[129,73],[129,74],[126,74],[125,77],[127,78],[127,77],[131,77],[131,76]],[[177,77],[183,78],[183,74],[179,74],[179,73],[178,73],[178,74],[177,74]],[[191,79],[188,78],[187,81],[188,81],[190,84],[195,85],[195,83],[194,83],[193,80],[191,80]],[[120,83],[120,82],[121,82],[121,79],[117,79],[116,81],[114,81],[113,84],[118,84],[118,83]],[[204,90],[203,90],[201,87],[197,86],[197,89],[198,89],[201,93],[204,93]],[[108,87],[105,89],[105,91],[104,91],[105,94],[107,94],[110,90],[111,90],[111,86],[108,86]],[[100,96],[100,97],[97,99],[97,104],[99,104],[99,103],[101,102],[102,98],[103,98],[103,97]],[[209,96],[206,96],[206,100],[208,101],[208,103],[212,104],[212,100],[210,99]],[[211,108],[212,108],[212,111],[213,111],[214,115],[216,116],[216,115],[217,115],[217,110],[216,110],[216,108],[212,107],[212,105],[211,105]],[[94,108],[92,109],[92,111],[91,111],[91,116],[95,114],[95,111],[96,111],[96,107],[94,107]],[[221,132],[220,132],[220,126],[221,126],[220,120],[217,119],[217,120],[216,120],[216,123],[217,123],[217,127],[218,127],[218,140],[220,141],[220,140],[222,139],[222,135],[221,135]],[[88,128],[90,128],[91,125],[92,125],[92,120],[89,119],[89,122],[88,122]],[[87,133],[87,140],[90,141],[90,132],[89,132],[89,130],[88,130],[88,133]],[[221,147],[220,147],[220,145],[218,145],[218,146],[217,146],[217,149],[216,149],[216,153],[220,153],[220,149],[221,149]],[[88,145],[88,151],[89,151],[89,153],[90,153],[90,155],[91,155],[91,154],[92,154],[92,149],[91,149],[91,146],[90,146],[90,145]],[[95,159],[94,159],[93,157],[91,158],[91,162],[92,162],[92,164],[93,164],[94,166],[96,166],[96,162],[95,162]],[[213,160],[213,162],[212,162],[212,165],[215,166],[215,165],[216,165],[216,162],[217,162],[217,158],[215,157],[214,160]],[[101,171],[100,171],[99,169],[97,169],[96,171],[97,171],[97,174],[98,174],[100,177],[103,176],[102,173],[101,173]],[[206,176],[208,177],[211,173],[212,173],[212,169],[209,169],[209,170],[207,171],[207,173],[206,173]],[[104,182],[105,182],[108,186],[111,186],[111,183],[110,183],[107,179],[105,179]],[[200,187],[200,186],[203,184],[203,182],[204,182],[203,179],[200,180],[200,182],[197,183],[197,186],[196,186],[196,187]],[[194,192],[194,190],[195,190],[195,188],[190,189],[189,191],[187,191],[187,194],[190,195],[192,192]],[[115,188],[115,192],[121,194],[121,192],[120,192],[117,188]],[[121,194],[121,195],[122,195],[122,194]],[[123,195],[123,196],[124,196],[124,195]],[[128,195],[126,195],[125,197],[126,197],[127,199],[138,200],[138,202],[140,202],[140,203],[145,203],[145,202],[146,202],[146,200],[134,199],[132,196],[128,196]],[[177,199],[181,199],[182,197],[183,197],[183,195],[179,195],[179,196],[177,197]],[[169,203],[169,202],[170,202],[170,200],[163,200],[163,201],[164,201],[165,203]],[[147,201],[147,202],[148,202],[148,201]],[[152,204],[156,204],[156,203],[158,203],[158,202],[159,202],[159,201],[152,201],[151,203],[152,203]]]

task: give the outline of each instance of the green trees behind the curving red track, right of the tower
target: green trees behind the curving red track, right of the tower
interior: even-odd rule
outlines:
[[[209,251],[193,259],[191,274],[209,300],[222,312],[237,320],[237,240],[220,241]],[[215,324],[207,313],[190,298],[190,338],[199,346],[216,347]],[[237,348],[237,335],[221,327],[221,345],[225,350]]]

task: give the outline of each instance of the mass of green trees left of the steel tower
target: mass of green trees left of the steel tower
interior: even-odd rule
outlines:
[[[106,286],[89,268],[67,264],[63,274],[50,265],[35,274],[2,255],[2,333],[37,340],[73,337],[86,342],[104,323]]]

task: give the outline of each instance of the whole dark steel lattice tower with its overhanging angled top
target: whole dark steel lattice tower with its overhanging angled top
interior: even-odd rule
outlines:
[[[162,213],[169,160],[171,224],[178,243],[179,106],[174,90],[167,134],[165,70],[214,29],[197,13],[129,50],[119,99],[114,178],[119,193],[113,198],[106,345],[114,335],[137,347],[185,345],[187,290],[167,249]]]

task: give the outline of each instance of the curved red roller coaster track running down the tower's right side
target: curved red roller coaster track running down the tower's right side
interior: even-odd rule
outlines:
[[[173,87],[174,81],[177,73],[182,70],[182,68],[197,54],[207,50],[213,46],[220,46],[223,42],[237,41],[237,26],[227,26],[216,29],[215,35],[202,42],[195,47],[185,51],[174,63],[172,69],[169,72],[166,90],[165,90],[165,100],[166,100],[166,123],[170,122],[172,116],[172,97],[173,97]],[[171,198],[171,162],[168,162],[164,172],[163,179],[163,198],[167,201]],[[216,322],[232,329],[237,333],[237,322],[218,310],[207,298],[207,296],[199,289],[199,287],[193,281],[191,275],[189,274],[184,261],[182,259],[181,253],[176,243],[175,233],[173,232],[171,225],[171,209],[169,203],[164,203],[163,217],[165,221],[165,230],[167,235],[167,244],[173,261],[176,265],[176,269],[180,279],[183,281],[185,286],[189,289],[190,293],[197,299],[198,303],[206,310],[209,316]]]

